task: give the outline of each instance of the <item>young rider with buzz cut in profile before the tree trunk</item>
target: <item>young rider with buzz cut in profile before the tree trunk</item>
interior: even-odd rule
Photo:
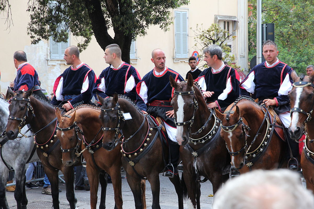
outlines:
[[[93,90],[96,98],[96,93],[102,97],[112,97],[115,92],[118,94],[136,100],[135,87],[141,77],[138,71],[130,64],[122,61],[121,49],[118,44],[110,44],[105,48],[105,62],[110,64],[103,70]]]

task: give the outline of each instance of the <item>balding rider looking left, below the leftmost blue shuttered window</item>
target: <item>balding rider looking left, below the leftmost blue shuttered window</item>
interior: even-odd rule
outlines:
[[[57,77],[51,104],[59,105],[62,102],[62,107],[67,111],[81,104],[91,104],[96,81],[94,71],[79,59],[76,46],[69,46],[64,51],[63,59],[71,66]]]

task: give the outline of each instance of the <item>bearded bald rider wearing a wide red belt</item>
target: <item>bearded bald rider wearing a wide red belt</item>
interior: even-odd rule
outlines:
[[[173,167],[167,165],[165,176],[172,177],[173,174],[177,174],[180,145],[176,141],[174,110],[170,104],[173,88],[170,85],[169,76],[172,76],[176,82],[184,81],[184,79],[179,73],[165,66],[166,55],[163,50],[154,49],[151,61],[155,65],[154,69],[147,73],[136,86],[137,106],[144,114],[158,116],[165,123],[170,138],[170,156],[173,165]]]

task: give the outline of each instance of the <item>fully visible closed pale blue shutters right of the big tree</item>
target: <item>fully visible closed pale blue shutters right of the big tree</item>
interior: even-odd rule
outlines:
[[[187,11],[175,11],[175,57],[188,57]]]

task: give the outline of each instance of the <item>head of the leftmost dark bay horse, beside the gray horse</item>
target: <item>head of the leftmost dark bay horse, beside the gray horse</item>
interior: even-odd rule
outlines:
[[[34,88],[24,92],[16,91],[9,105],[9,117],[6,128],[8,139],[15,139],[24,125],[30,123],[34,115],[33,107],[30,105],[30,96]]]

